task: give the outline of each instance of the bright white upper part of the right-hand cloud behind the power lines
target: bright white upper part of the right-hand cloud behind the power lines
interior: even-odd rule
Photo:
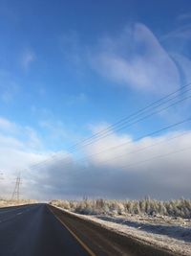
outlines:
[[[175,150],[179,151],[181,148],[189,147],[190,140],[191,132],[186,132],[185,134],[184,132],[171,132],[158,137],[145,137],[138,141],[134,141],[130,135],[117,135],[113,132],[111,135],[87,146],[87,151],[90,151],[91,155],[93,154],[91,161],[94,163],[119,168],[132,164],[136,166],[138,162],[153,156]],[[166,143],[168,141],[169,143]],[[152,145],[156,146],[151,147]],[[113,150],[110,151],[109,149]],[[141,149],[144,150],[141,151]]]

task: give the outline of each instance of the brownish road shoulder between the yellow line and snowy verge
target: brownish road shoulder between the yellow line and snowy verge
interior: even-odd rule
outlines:
[[[92,256],[180,256],[114,232],[95,221],[83,220],[68,211],[51,205],[49,208],[91,250]]]

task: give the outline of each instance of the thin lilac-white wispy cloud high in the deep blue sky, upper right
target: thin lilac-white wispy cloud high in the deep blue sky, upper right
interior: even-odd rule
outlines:
[[[138,92],[167,94],[188,81],[181,80],[187,70],[174,58],[183,54],[180,43],[164,45],[174,38],[190,40],[190,31],[190,24],[184,24],[158,38],[146,25],[135,22],[116,35],[100,37],[94,45],[82,44],[76,33],[64,35],[61,45],[75,71],[91,67],[113,83]]]

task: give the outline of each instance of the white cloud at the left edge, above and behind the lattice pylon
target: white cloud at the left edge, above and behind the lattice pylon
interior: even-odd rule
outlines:
[[[1,197],[11,197],[14,178],[21,172],[23,183],[21,197],[32,198],[39,196],[40,185],[34,191],[33,184],[38,182],[38,175],[34,179],[30,166],[47,161],[53,157],[57,159],[60,153],[45,151],[36,131],[30,127],[21,127],[10,120],[0,117],[0,170],[3,173],[1,182]],[[41,164],[42,166],[42,164]],[[42,174],[46,177],[46,172]],[[45,194],[42,195],[45,197]],[[38,197],[40,198],[40,196]]]

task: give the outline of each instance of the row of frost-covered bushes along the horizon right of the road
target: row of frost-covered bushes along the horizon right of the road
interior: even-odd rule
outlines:
[[[66,210],[86,215],[149,215],[171,216],[191,218],[191,200],[156,200],[144,198],[141,200],[110,200],[110,199],[83,199],[75,200],[52,200],[51,204]]]

